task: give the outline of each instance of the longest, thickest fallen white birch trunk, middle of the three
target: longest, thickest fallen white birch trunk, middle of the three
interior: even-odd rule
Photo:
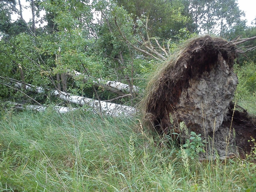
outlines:
[[[21,83],[16,83],[15,87],[21,88],[22,84]],[[35,90],[37,93],[44,93],[45,89],[43,87],[34,87],[33,86],[28,86],[26,85],[27,90]],[[81,97],[81,96],[73,96],[70,93],[65,93],[62,91],[57,91],[57,90],[50,90],[50,94],[58,96],[60,99],[63,99],[67,102],[79,104],[79,105],[88,105],[93,110],[99,111],[100,106],[99,106],[99,101],[95,99],[89,99],[86,97]],[[136,109],[127,106],[127,105],[120,105],[116,103],[110,103],[110,102],[105,102],[105,101],[100,101],[101,104],[101,110],[103,113],[111,115],[111,116],[130,116],[136,113]]]

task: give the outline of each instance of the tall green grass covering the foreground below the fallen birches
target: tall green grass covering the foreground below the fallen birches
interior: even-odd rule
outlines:
[[[5,111],[0,191],[230,192],[255,172],[246,160],[191,160],[179,150],[139,119]]]

